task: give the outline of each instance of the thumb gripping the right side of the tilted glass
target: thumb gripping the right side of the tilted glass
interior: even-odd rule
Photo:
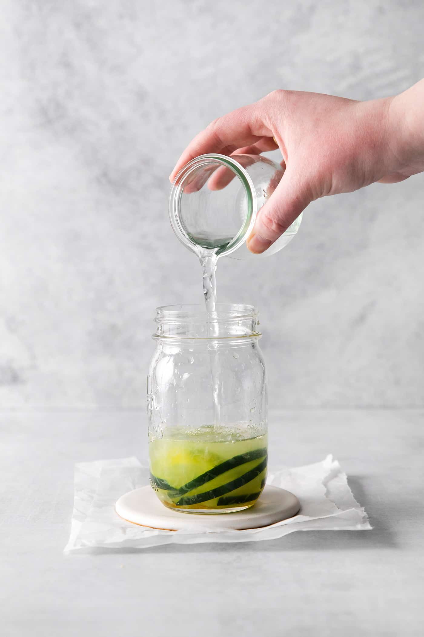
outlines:
[[[256,223],[247,239],[247,247],[253,254],[265,252],[285,233],[289,225],[311,203],[313,197],[306,180],[287,169],[268,202],[259,210]]]

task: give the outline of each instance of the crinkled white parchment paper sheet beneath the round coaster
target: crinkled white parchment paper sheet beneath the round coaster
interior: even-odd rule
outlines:
[[[149,483],[149,469],[137,458],[79,462],[75,465],[75,496],[71,536],[65,553],[95,548],[148,548],[161,544],[247,542],[275,540],[293,531],[371,529],[366,511],[353,497],[338,461],[282,468],[268,475],[267,483],[294,493],[300,512],[289,520],[246,531],[211,530],[205,526],[184,531],[163,531],[131,524],[118,517],[118,497]],[[207,520],[205,520],[207,522]]]

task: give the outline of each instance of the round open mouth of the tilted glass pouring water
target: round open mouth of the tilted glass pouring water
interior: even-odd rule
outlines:
[[[242,155],[240,155],[242,157]],[[208,189],[207,182],[217,168],[226,168],[236,177],[244,193],[243,219],[238,220],[231,228],[224,229],[224,220],[229,217],[217,202],[212,202],[212,195],[221,189]],[[201,196],[203,193],[203,196]],[[191,201],[184,210],[184,202]],[[221,201],[222,204],[222,201]],[[231,209],[233,209],[231,200]],[[204,218],[202,219],[202,215]],[[218,227],[203,227],[202,222],[209,215],[210,222]],[[221,215],[221,217],[219,217]],[[224,215],[222,217],[222,215]],[[169,218],[177,238],[186,248],[196,252],[197,248],[215,248],[215,254],[231,254],[235,252],[249,236],[256,219],[256,191],[249,173],[240,162],[233,157],[211,153],[195,157],[183,166],[172,184],[169,196]],[[221,227],[222,225],[222,227]]]

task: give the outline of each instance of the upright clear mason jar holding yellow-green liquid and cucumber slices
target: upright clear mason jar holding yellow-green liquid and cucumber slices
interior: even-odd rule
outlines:
[[[187,513],[254,505],[268,449],[266,375],[257,310],[217,304],[156,310],[147,376],[151,485]],[[213,333],[214,336],[210,336]]]

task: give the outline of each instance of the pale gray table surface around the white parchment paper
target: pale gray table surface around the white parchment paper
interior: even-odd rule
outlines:
[[[271,466],[332,452],[373,531],[65,557],[74,462],[144,457],[146,417],[3,412],[1,633],[421,636],[423,422],[423,410],[271,413]]]

